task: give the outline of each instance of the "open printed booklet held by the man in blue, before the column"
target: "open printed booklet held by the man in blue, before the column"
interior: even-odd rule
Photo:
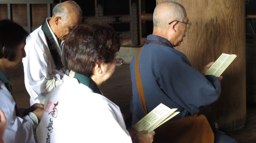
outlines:
[[[237,57],[237,55],[222,53],[214,64],[212,64],[212,66],[204,73],[204,75],[220,76],[235,57]]]

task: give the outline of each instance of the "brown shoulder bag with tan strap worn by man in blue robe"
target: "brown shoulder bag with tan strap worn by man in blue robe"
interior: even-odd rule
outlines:
[[[138,66],[138,50],[135,61],[136,82],[141,105],[148,114]],[[179,118],[167,121],[155,129],[155,143],[214,143],[214,133],[204,115]]]

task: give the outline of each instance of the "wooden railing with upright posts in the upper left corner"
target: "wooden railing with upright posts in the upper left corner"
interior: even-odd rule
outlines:
[[[59,3],[59,0],[0,0],[0,4],[7,4],[8,19],[12,20],[12,4],[27,4],[27,27],[23,27],[31,33],[36,28],[32,27],[32,9],[31,4],[47,4],[48,17],[52,15],[52,4]]]

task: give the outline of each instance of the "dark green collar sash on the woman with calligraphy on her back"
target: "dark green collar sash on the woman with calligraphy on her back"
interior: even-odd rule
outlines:
[[[94,93],[102,95],[100,89],[97,87],[97,85],[91,78],[88,78],[87,76],[78,73],[75,73],[74,78],[76,78],[79,83],[82,83],[85,86],[89,87]]]

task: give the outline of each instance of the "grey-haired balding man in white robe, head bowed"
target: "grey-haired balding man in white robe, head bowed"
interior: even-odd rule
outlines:
[[[67,65],[63,42],[71,29],[82,21],[82,10],[74,1],[57,4],[44,24],[27,39],[23,58],[26,90],[30,105],[44,104],[45,96],[62,84]]]

